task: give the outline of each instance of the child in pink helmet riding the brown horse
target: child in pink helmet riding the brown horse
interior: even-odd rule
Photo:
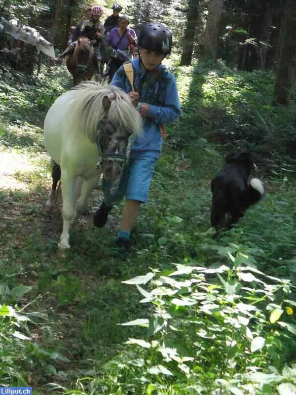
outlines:
[[[87,37],[89,40],[94,40],[93,48],[95,52],[95,56],[97,59],[97,68],[98,68],[98,75],[97,80],[101,79],[100,76],[100,68],[101,68],[101,51],[99,40],[104,37],[104,26],[102,22],[100,22],[100,17],[103,14],[103,9],[99,5],[94,5],[91,7],[91,20],[87,19],[83,21],[81,24],[80,30],[76,33],[76,37],[74,37],[73,33],[70,36],[70,40],[68,41],[68,47],[66,50],[57,58],[53,58],[56,63],[61,63],[62,59],[69,55],[71,52],[74,51],[74,47],[76,45],[76,40],[79,36]],[[71,42],[70,42],[71,41]]]

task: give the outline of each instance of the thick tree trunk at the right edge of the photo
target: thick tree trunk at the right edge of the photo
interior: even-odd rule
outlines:
[[[275,103],[289,106],[296,75],[296,1],[288,0],[279,66],[273,97]]]

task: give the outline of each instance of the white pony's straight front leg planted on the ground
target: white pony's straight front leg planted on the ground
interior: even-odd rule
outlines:
[[[66,170],[62,169],[62,196],[63,196],[63,232],[60,237],[60,242],[58,248],[65,250],[70,248],[69,244],[69,229],[70,222],[74,215],[75,197],[74,197],[74,187],[76,182],[76,177],[70,175]]]

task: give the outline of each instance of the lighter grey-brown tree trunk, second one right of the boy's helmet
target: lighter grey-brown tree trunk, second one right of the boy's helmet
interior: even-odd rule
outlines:
[[[219,27],[223,11],[223,4],[224,0],[211,0],[209,3],[205,35],[200,45],[200,60],[202,61],[217,61]]]

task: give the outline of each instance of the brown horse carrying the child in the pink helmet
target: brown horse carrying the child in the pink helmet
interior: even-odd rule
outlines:
[[[86,37],[80,37],[74,51],[67,58],[66,66],[73,76],[74,85],[85,80],[91,80],[97,72],[92,41]]]

